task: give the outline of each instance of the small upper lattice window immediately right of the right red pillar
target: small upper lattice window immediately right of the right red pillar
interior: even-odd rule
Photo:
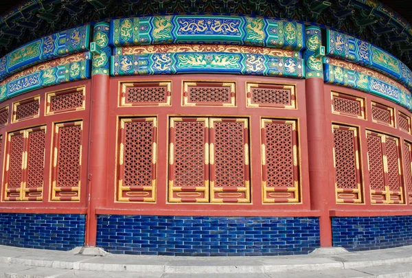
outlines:
[[[361,97],[332,92],[332,113],[365,119],[365,100]]]

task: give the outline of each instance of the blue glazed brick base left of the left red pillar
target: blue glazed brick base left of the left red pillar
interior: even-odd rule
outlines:
[[[84,245],[86,216],[0,213],[0,244],[67,251]]]

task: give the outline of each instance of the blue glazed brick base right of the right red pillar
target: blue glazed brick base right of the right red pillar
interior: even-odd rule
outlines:
[[[365,251],[412,244],[412,216],[334,217],[333,246]]]

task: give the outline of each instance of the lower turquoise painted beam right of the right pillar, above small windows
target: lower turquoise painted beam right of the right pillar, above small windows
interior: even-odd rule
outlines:
[[[411,93],[407,90],[399,89],[387,82],[367,76],[359,71],[346,69],[328,63],[328,58],[325,59],[323,65],[325,69],[325,82],[339,86],[364,91],[366,93],[373,93],[387,100],[391,100],[396,104],[412,110]]]

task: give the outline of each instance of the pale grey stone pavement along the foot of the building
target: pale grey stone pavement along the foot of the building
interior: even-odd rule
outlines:
[[[405,278],[412,277],[412,246],[346,252],[323,248],[277,257],[79,255],[0,245],[0,278]]]

